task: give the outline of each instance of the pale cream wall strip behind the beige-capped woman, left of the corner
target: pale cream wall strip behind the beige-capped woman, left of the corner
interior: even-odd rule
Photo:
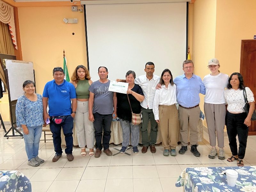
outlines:
[[[192,60],[195,74],[202,79],[210,71],[208,60],[215,55],[216,0],[196,0],[193,4]],[[200,94],[200,109],[204,112],[204,95]],[[203,122],[206,125],[206,122]]]

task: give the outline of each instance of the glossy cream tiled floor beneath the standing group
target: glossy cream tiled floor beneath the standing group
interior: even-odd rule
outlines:
[[[10,126],[6,126],[8,130]],[[51,137],[51,136],[48,136]],[[80,148],[74,147],[74,161],[69,162],[64,155],[59,161],[53,163],[54,147],[52,141],[40,141],[39,157],[45,162],[38,167],[31,167],[27,164],[24,140],[20,137],[4,138],[4,131],[0,129],[0,170],[19,170],[31,181],[32,190],[39,191],[122,191],[122,192],[165,192],[182,191],[182,188],[175,187],[182,170],[187,167],[223,167],[236,166],[236,162],[227,162],[231,156],[228,146],[228,137],[225,137],[226,159],[209,159],[210,144],[208,136],[203,142],[199,142],[198,150],[200,157],[195,157],[190,152],[190,147],[185,155],[180,155],[177,147],[177,156],[163,156],[163,147],[156,146],[156,153],[117,154],[106,156],[102,153],[100,158],[94,156],[80,155]],[[247,142],[245,166],[256,165],[256,136],[249,136]],[[113,154],[121,145],[110,145]],[[63,148],[64,149],[64,148]]]

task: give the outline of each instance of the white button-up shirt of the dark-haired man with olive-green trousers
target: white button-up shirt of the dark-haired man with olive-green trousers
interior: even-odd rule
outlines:
[[[144,100],[140,103],[140,106],[143,108],[152,109],[153,100],[156,91],[156,85],[159,83],[160,77],[153,74],[153,78],[148,80],[146,75],[141,75],[135,78],[134,83],[140,85],[143,94]]]

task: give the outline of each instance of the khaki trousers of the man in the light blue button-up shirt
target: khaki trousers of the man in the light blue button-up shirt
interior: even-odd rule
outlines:
[[[199,121],[200,111],[199,106],[192,109],[185,109],[179,106],[181,146],[188,146],[188,124],[190,128],[189,142],[191,145],[198,144],[197,123]]]

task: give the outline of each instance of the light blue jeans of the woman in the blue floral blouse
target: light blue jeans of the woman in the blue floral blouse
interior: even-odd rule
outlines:
[[[38,156],[42,127],[43,125],[28,127],[28,134],[23,133],[28,161]]]

